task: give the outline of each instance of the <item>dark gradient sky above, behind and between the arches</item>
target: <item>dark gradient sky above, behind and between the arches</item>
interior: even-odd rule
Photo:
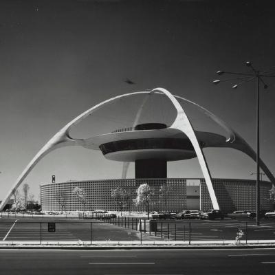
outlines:
[[[98,102],[131,91],[164,87],[206,107],[255,146],[255,83],[233,90],[234,82],[213,86],[212,80],[218,69],[249,72],[245,61],[259,69],[275,65],[273,7],[272,1],[1,0],[0,199],[56,131]],[[136,84],[127,85],[125,78]],[[267,84],[261,92],[261,157],[273,172],[275,79]],[[102,110],[72,135],[131,126],[141,100]],[[171,121],[173,112],[162,104],[168,106],[163,99],[151,100],[144,121],[160,115]],[[194,126],[208,129],[209,120],[191,109],[190,115]],[[213,177],[251,178],[256,170],[239,152],[205,152]],[[169,177],[201,177],[197,159],[168,168]],[[39,162],[25,182],[38,194],[51,175],[66,181],[120,174],[121,163],[98,152],[61,148]]]

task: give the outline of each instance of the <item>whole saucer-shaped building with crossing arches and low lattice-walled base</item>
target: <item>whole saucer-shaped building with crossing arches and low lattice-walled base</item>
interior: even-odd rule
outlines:
[[[72,126],[87,118],[88,115],[94,113],[96,109],[104,106],[104,104],[109,104],[119,98],[134,96],[136,94],[147,94],[150,96],[154,93],[159,94],[159,96],[166,96],[175,107],[177,115],[170,126],[162,123],[138,124],[137,122],[140,111],[142,111],[141,106],[133,126],[129,128],[118,129],[111,133],[96,135],[87,139],[74,139],[70,137],[69,130]],[[193,104],[197,109],[199,109],[199,111],[202,111],[203,114],[208,116],[208,118],[219,124],[219,126],[228,133],[228,137],[217,133],[195,130],[188,115],[181,107],[178,100],[184,100]],[[144,103],[145,101],[143,104]],[[179,96],[173,96],[166,89],[157,88],[152,91],[134,92],[131,94],[116,96],[115,98],[101,102],[81,115],[78,115],[77,118],[64,126],[61,131],[58,131],[58,133],[56,133],[56,135],[54,135],[54,137],[52,137],[43,148],[41,148],[41,151],[39,151],[34,159],[32,159],[32,162],[28,164],[1,203],[0,210],[12,195],[12,190],[18,188],[37,162],[47,155],[47,153],[50,153],[50,151],[63,146],[83,146],[91,150],[100,150],[107,159],[124,162],[122,179],[43,185],[41,187],[41,204],[43,209],[58,208],[56,202],[54,202],[54,199],[58,198],[56,197],[56,192],[59,192],[60,189],[64,188],[67,190],[67,197],[70,198],[69,207],[72,206],[72,210],[77,210],[80,206],[76,202],[76,198],[72,197],[73,195],[70,188],[73,186],[82,186],[87,192],[87,202],[85,204],[87,207],[89,205],[89,209],[104,208],[113,210],[115,206],[109,197],[112,188],[121,186],[123,188],[131,188],[135,190],[144,182],[151,185],[155,190],[155,198],[153,199],[155,205],[153,206],[153,209],[159,210],[159,208],[164,208],[163,204],[159,202],[157,195],[159,187],[165,183],[172,186],[173,190],[169,199],[170,203],[172,203],[169,207],[170,210],[182,210],[188,208],[188,201],[191,203],[193,199],[192,202],[196,203],[194,201],[196,195],[189,195],[186,191],[190,191],[191,194],[192,189],[186,186],[186,179],[167,179],[167,162],[191,159],[194,157],[198,158],[199,166],[201,167],[204,177],[203,179],[200,179],[199,184],[199,207],[201,209],[214,208],[225,211],[239,208],[241,208],[241,210],[243,210],[243,208],[245,208],[245,210],[255,209],[252,206],[253,202],[256,201],[254,182],[239,179],[212,179],[206,162],[206,157],[203,153],[203,148],[234,148],[256,160],[256,153],[249,144],[245,142],[245,140],[243,140],[243,138],[230,126],[225,124],[223,120],[213,113],[210,113],[210,111],[194,102],[190,102],[190,100],[186,100]],[[129,162],[135,163],[135,179],[126,179]],[[260,162],[260,166],[270,181],[275,183],[274,176],[262,161]],[[271,188],[271,183],[262,182],[261,188],[262,190],[268,190]],[[261,195],[262,203],[264,203],[263,195],[265,195],[265,192]],[[193,197],[188,198],[188,196]],[[98,204],[94,201],[98,201]],[[245,203],[242,201],[245,201]],[[76,206],[76,208],[73,206]]]

